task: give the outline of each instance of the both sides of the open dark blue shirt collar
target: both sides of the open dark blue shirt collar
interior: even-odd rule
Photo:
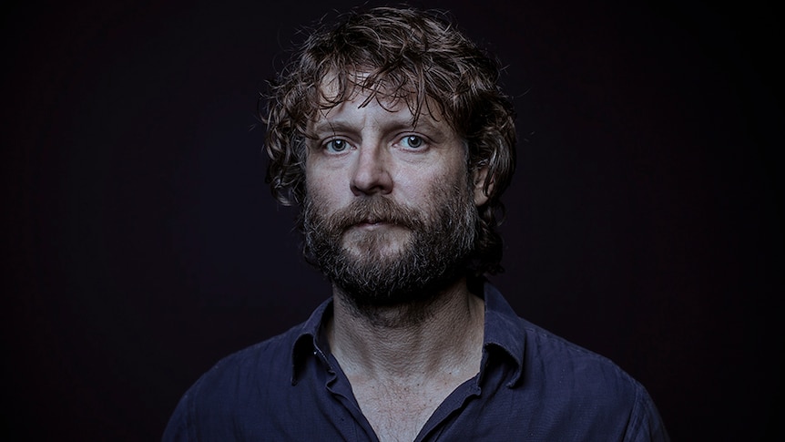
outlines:
[[[523,373],[525,331],[513,308],[491,283],[484,283],[483,295],[485,301],[483,348],[489,354],[496,353],[493,350],[499,350],[508,360],[515,363],[514,375],[507,384],[508,387],[512,387],[518,383]],[[291,349],[292,385],[297,383],[298,372],[309,355],[317,355],[329,365],[327,358],[329,347],[322,331],[331,315],[332,298],[321,303],[308,321],[301,324]],[[494,357],[494,355],[489,356]],[[485,367],[481,368],[484,369]]]

